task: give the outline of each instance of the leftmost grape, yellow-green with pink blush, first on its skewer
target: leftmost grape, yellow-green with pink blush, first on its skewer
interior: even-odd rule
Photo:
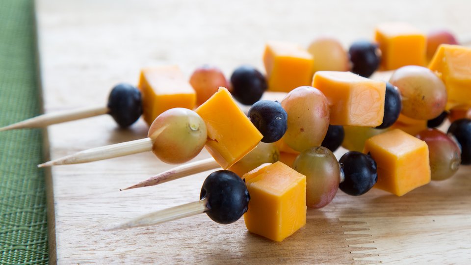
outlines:
[[[152,152],[165,163],[179,164],[193,159],[205,146],[206,124],[193,110],[171,108],[158,115],[149,128]]]

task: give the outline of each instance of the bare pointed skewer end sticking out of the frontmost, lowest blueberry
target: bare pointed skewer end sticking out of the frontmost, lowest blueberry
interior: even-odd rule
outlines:
[[[195,214],[203,213],[208,211],[207,199],[203,199],[197,202],[191,202],[176,207],[164,209],[158,212],[152,212],[135,219],[132,219],[126,223],[119,224],[117,226],[105,229],[105,231],[127,229],[132,227],[141,227],[156,225],[172,220],[181,219],[184,217],[192,216]]]

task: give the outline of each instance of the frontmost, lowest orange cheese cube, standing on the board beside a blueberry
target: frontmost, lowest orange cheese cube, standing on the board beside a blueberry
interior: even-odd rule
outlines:
[[[276,162],[244,178],[250,194],[244,220],[251,233],[282,241],[306,224],[306,176]]]

